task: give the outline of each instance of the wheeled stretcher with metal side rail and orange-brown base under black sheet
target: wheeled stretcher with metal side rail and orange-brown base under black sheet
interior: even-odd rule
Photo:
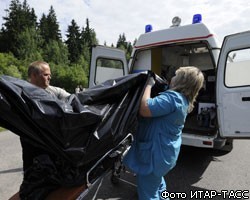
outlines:
[[[84,200],[88,192],[100,182],[103,177],[110,175],[112,184],[119,182],[120,173],[125,171],[122,164],[133,141],[133,135],[128,134],[115,148],[104,154],[86,173],[86,183],[77,187],[61,187],[51,192],[45,200]],[[20,200],[19,192],[9,200]]]

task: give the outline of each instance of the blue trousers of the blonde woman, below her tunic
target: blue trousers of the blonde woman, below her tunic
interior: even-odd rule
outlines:
[[[139,200],[160,200],[161,192],[166,190],[164,177],[149,175],[136,175],[137,193]]]

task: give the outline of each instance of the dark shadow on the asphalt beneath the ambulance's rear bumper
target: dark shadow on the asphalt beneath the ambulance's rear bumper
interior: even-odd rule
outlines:
[[[168,191],[185,192],[187,197],[189,197],[185,199],[191,199],[190,195],[194,194],[195,191],[204,191],[200,192],[200,195],[211,194],[209,193],[209,190],[195,187],[193,184],[201,180],[203,173],[212,161],[220,162],[220,160],[216,157],[223,156],[227,153],[228,152],[215,149],[183,146],[177,165],[165,177],[168,185]],[[205,191],[207,191],[207,193]],[[197,195],[197,198],[192,199],[204,199],[204,196],[203,198],[200,198],[198,193]],[[212,199],[221,200],[232,198],[229,198],[228,195],[223,196],[222,194],[222,196],[215,196]]]

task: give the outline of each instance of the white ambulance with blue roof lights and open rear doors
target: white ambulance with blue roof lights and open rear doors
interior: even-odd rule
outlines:
[[[185,26],[176,17],[159,31],[146,26],[128,67],[123,51],[94,47],[89,86],[145,70],[168,77],[178,67],[196,66],[205,84],[187,116],[183,144],[231,150],[233,138],[250,137],[250,31],[226,36],[220,47],[200,17]]]

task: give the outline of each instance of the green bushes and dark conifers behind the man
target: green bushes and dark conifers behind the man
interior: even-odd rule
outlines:
[[[72,19],[62,37],[52,6],[40,19],[27,0],[11,0],[5,11],[0,29],[0,75],[27,80],[28,65],[35,60],[44,60],[51,66],[52,85],[71,93],[77,85],[88,87],[91,47],[99,44],[88,18],[82,26]],[[125,50],[127,58],[132,51],[132,44],[126,41],[124,33],[111,47]]]

